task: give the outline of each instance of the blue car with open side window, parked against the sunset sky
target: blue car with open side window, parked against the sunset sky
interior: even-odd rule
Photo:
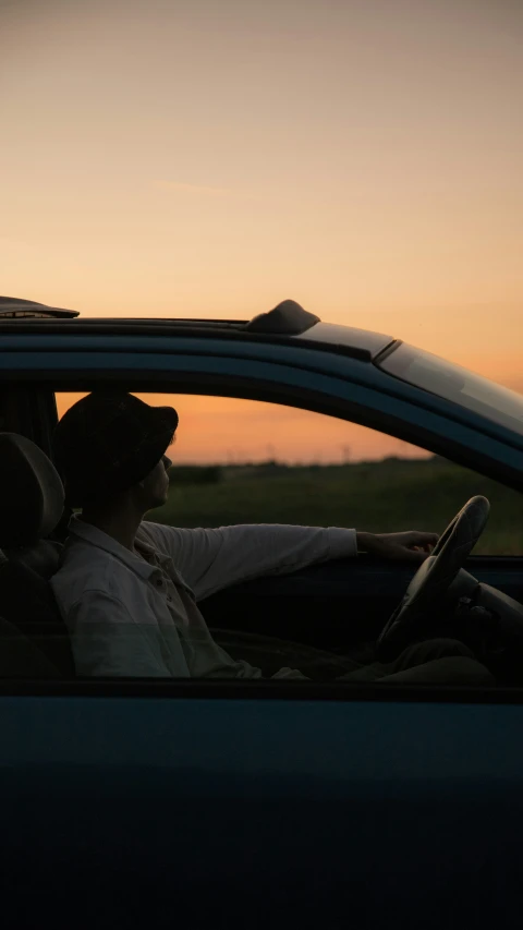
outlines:
[[[435,558],[421,575],[362,556],[244,582],[202,609],[232,639],[349,650],[373,637],[387,651],[423,624],[423,581],[425,597],[488,636],[498,687],[85,679],[48,583],[68,515],[50,526],[1,437],[50,458],[57,395],[100,386],[244,398],[394,436],[520,502],[523,397],[293,301],[238,322],[84,317],[3,298],[0,378],[0,650],[29,641],[60,671],[0,665],[4,913],[25,926],[50,911],[73,926],[512,927],[523,559],[471,555],[484,495],[446,515],[439,588]]]

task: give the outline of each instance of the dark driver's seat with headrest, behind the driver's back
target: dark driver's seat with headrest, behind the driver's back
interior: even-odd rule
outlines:
[[[44,677],[49,677],[49,668],[60,678],[74,676],[68,629],[49,584],[61,545],[48,538],[62,517],[63,503],[62,482],[45,452],[26,436],[0,433],[0,650],[8,648],[13,627],[29,640],[29,677],[35,674],[35,648],[44,655]],[[24,675],[21,655],[19,642],[13,677]],[[4,666],[2,662],[2,671]]]

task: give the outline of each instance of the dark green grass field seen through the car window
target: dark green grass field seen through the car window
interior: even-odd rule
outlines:
[[[475,552],[522,555],[523,495],[437,458],[311,468],[173,468],[169,502],[150,518],[178,527],[273,522],[441,532],[475,494],[491,504]]]

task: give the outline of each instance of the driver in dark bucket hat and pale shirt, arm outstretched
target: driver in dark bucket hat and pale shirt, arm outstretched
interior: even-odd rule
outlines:
[[[260,678],[212,638],[200,600],[235,582],[356,556],[423,560],[435,533],[373,534],[337,527],[236,526],[179,529],[144,520],[169,492],[166,455],[178,427],[170,407],[121,391],[94,391],[63,415],[54,460],[73,516],[51,580],[70,630],[78,675]],[[275,678],[305,678],[297,668]],[[488,672],[453,640],[405,650],[390,665],[343,676],[381,681],[485,681]]]

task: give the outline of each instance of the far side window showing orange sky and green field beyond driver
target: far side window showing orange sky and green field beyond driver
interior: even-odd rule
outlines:
[[[59,414],[82,395],[57,395]],[[138,395],[180,414],[168,503],[178,527],[293,523],[440,533],[472,496],[491,510],[475,555],[523,555],[523,496],[392,436],[252,400]]]

